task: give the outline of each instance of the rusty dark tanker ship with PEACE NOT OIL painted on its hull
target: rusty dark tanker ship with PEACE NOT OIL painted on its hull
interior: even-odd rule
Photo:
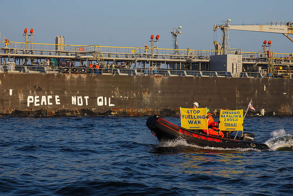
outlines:
[[[243,52],[229,47],[227,34],[273,31],[291,39],[292,23],[229,22],[214,25],[223,36],[212,50],[179,49],[181,26],[171,32],[173,49],[159,48],[159,35],[143,47],[68,45],[63,36],[33,43],[33,29],[25,29],[25,42],[0,42],[0,115],[178,115],[193,102],[217,115],[246,108],[250,99],[252,115],[291,115],[292,53],[272,52],[271,41]]]

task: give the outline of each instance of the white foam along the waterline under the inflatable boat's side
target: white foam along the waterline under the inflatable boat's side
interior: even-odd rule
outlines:
[[[192,147],[192,148],[196,148],[196,149],[220,150],[220,151],[230,151],[230,150],[239,151],[239,152],[250,151],[250,150],[254,150],[257,152],[262,151],[262,150],[253,149],[253,148],[220,148],[220,147],[209,147],[209,146],[202,147],[202,146],[188,144],[184,139],[168,140],[168,141],[160,142],[160,145],[162,147],[186,146],[186,147]]]

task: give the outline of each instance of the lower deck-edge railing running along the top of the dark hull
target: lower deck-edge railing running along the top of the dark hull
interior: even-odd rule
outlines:
[[[0,65],[0,73],[57,73],[57,74],[98,74],[98,75],[130,75],[130,76],[187,76],[187,77],[227,77],[227,78],[292,78],[292,74],[241,72],[238,76],[225,71],[195,71],[195,70],[169,70],[169,69],[127,69],[109,65],[101,68],[89,67],[57,67],[32,65]]]

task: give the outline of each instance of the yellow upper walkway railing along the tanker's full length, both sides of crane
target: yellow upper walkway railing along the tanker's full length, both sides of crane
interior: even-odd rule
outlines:
[[[0,47],[5,48],[6,41],[0,41]],[[56,49],[56,46],[62,46],[62,50]],[[27,48],[27,49],[25,49]],[[146,54],[148,57],[153,56],[177,56],[176,58],[196,58],[196,57],[206,57],[209,58],[210,55],[215,54],[215,49],[212,50],[191,50],[191,49],[169,49],[169,48],[150,48],[149,51],[145,51],[145,47],[118,47],[118,46],[100,46],[99,47],[103,55],[123,53],[127,55],[143,55]],[[24,43],[9,41],[7,49],[13,49],[13,53],[24,52],[24,53],[42,53],[42,54],[52,54],[52,53],[65,53],[70,55],[72,52],[74,54],[80,53],[94,53],[96,51],[96,45],[74,45],[74,44],[50,44],[50,43]],[[151,53],[151,51],[154,51]],[[232,53],[241,54],[242,58],[267,58],[266,52],[243,52],[237,48],[231,48]],[[277,59],[293,59],[293,53],[275,53]],[[171,57],[170,57],[171,58]]]

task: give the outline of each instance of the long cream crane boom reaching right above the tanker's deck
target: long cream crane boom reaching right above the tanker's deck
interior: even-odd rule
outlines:
[[[228,19],[230,20],[230,19]],[[230,20],[231,21],[231,20]],[[229,21],[229,22],[230,22]],[[285,21],[270,21],[267,24],[242,24],[242,25],[228,25],[227,29],[241,30],[241,31],[259,31],[259,32],[268,32],[268,33],[282,33],[289,40],[293,42],[293,39],[288,36],[288,34],[293,34],[292,22]],[[214,31],[217,29],[223,29],[223,25],[214,25]]]

